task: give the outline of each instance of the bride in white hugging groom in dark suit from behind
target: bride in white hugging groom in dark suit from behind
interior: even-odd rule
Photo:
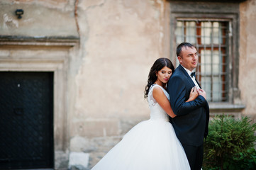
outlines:
[[[179,66],[167,58],[155,61],[148,75],[145,98],[150,119],[135,125],[92,170],[200,170],[204,137],[208,134],[206,92],[192,72],[196,48],[177,47]]]

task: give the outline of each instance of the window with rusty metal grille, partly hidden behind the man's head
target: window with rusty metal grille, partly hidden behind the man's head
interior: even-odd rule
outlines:
[[[176,43],[190,42],[199,53],[196,79],[211,102],[228,101],[228,21],[177,20]]]

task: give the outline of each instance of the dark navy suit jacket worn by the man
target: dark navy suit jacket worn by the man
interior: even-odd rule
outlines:
[[[189,74],[179,65],[167,84],[172,110],[177,115],[170,118],[170,123],[182,145],[200,146],[208,135],[209,107],[201,95],[186,102],[194,86]]]

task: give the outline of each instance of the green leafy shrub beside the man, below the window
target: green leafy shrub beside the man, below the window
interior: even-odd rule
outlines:
[[[228,115],[218,115],[208,126],[204,141],[204,170],[256,169],[256,123],[243,117],[235,120]]]

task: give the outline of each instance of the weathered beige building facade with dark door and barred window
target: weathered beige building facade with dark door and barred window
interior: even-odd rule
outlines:
[[[211,115],[256,122],[255,0],[3,0],[0,9],[0,169],[90,169],[149,118],[150,67],[159,57],[177,66],[184,41],[199,51]]]

